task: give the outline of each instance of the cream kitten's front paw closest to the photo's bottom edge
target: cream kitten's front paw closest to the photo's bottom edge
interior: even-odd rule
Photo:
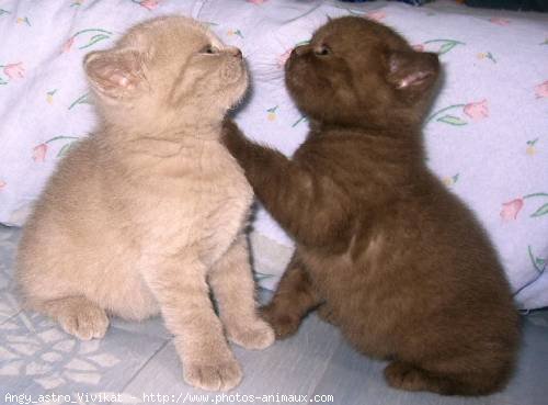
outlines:
[[[235,359],[183,363],[184,381],[206,391],[229,391],[240,383],[242,375]]]

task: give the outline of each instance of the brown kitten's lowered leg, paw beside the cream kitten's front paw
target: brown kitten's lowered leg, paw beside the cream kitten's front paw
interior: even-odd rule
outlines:
[[[320,302],[296,251],[262,315],[274,328],[276,338],[284,339],[297,331],[301,318]]]

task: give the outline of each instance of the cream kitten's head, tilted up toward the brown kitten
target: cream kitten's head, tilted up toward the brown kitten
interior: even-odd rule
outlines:
[[[183,16],[136,25],[84,70],[106,122],[138,127],[220,122],[248,87],[240,49]]]

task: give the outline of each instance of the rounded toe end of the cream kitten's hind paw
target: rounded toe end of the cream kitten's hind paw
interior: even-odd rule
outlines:
[[[106,313],[92,303],[67,306],[57,320],[67,334],[81,340],[101,339],[109,328]]]

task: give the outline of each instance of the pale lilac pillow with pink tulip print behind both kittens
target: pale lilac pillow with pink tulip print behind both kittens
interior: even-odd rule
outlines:
[[[163,13],[208,24],[242,48],[253,91],[236,117],[249,137],[290,155],[306,116],[285,90],[290,49],[327,16],[361,15],[437,52],[444,83],[424,125],[429,165],[478,215],[522,308],[548,305],[548,16],[475,10],[292,0],[142,0],[2,3],[0,30],[0,222],[21,225],[56,162],[93,131],[83,55],[129,25]],[[39,38],[37,41],[36,38]],[[273,288],[290,238],[264,210],[251,235],[262,285]]]

